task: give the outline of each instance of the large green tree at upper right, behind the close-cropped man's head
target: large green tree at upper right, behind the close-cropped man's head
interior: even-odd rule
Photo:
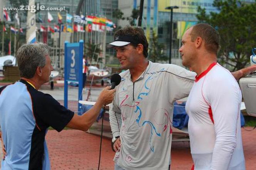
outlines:
[[[219,13],[209,15],[198,8],[199,22],[209,23],[221,37],[218,62],[230,70],[244,68],[249,63],[251,49],[256,45],[256,3],[245,4],[237,0],[214,0]]]

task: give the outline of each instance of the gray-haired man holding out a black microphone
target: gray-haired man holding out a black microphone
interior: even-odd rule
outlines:
[[[49,94],[39,92],[52,71],[50,48],[25,44],[17,51],[20,81],[0,88],[0,126],[7,155],[2,169],[50,169],[45,142],[49,126],[88,130],[115,90],[104,88],[96,104],[82,116],[66,109]]]

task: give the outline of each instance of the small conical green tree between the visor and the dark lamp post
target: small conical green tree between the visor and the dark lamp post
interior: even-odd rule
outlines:
[[[152,32],[152,37],[150,37],[151,48],[149,49],[149,59],[153,62],[160,60],[167,60],[168,57],[164,55],[165,45],[163,43],[158,43],[158,37],[156,33]]]

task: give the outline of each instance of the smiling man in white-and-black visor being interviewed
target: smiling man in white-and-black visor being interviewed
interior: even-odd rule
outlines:
[[[109,107],[115,170],[169,169],[173,103],[189,95],[196,73],[148,61],[147,38],[138,27],[116,31],[107,48],[115,48],[127,69]],[[233,74],[238,79],[253,70]]]

